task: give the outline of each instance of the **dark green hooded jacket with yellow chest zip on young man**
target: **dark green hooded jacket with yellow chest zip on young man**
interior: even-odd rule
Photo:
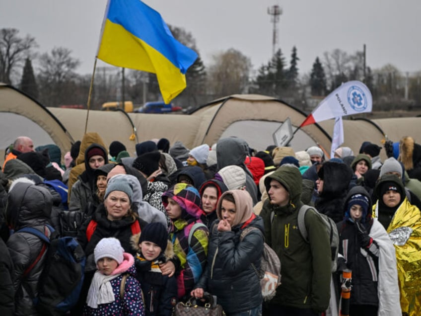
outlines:
[[[281,285],[271,303],[323,312],[330,299],[329,236],[322,219],[312,209],[305,215],[308,243],[298,230],[298,210],[303,205],[300,201],[302,180],[298,168],[281,166],[266,177],[267,191],[273,179],[288,191],[289,202],[281,207],[271,204],[268,199],[260,214],[265,226],[265,240],[281,260]]]

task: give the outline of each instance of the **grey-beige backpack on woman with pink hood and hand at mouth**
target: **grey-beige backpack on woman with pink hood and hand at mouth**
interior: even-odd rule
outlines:
[[[240,241],[253,230],[258,230],[258,228],[247,226],[240,234]],[[272,300],[276,294],[277,287],[281,285],[281,261],[278,254],[264,242],[260,269],[257,269],[253,263],[251,265],[260,279],[263,300]]]

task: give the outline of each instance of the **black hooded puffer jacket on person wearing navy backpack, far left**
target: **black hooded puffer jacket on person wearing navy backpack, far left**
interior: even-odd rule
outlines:
[[[38,315],[32,300],[38,295],[38,282],[46,252],[26,276],[24,272],[35,261],[44,242],[39,237],[19,230],[33,227],[50,236],[51,232],[45,224],[48,224],[50,219],[53,198],[46,188],[20,180],[16,179],[10,186],[6,208],[6,221],[15,231],[7,240],[15,268],[13,275],[15,315]]]

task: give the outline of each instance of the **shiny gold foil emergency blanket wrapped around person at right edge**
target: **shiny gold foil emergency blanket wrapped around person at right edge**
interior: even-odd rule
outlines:
[[[396,210],[387,233],[396,249],[402,313],[421,315],[421,212],[407,198]]]

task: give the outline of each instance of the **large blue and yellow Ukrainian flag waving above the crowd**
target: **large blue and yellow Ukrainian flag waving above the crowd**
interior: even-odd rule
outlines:
[[[198,55],[178,42],[161,15],[140,0],[109,0],[97,58],[156,74],[165,103],[186,87],[185,73]]]

